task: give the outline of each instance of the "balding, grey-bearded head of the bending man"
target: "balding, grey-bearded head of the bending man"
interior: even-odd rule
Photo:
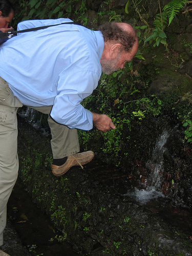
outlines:
[[[100,26],[99,30],[104,39],[100,63],[102,72],[109,75],[133,59],[137,53],[138,39],[132,26],[126,23],[108,23]]]

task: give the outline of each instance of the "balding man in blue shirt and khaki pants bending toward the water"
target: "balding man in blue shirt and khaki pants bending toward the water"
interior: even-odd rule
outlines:
[[[107,115],[84,109],[81,102],[96,89],[101,72],[122,69],[138,49],[136,33],[126,23],[93,31],[65,18],[26,20],[17,30],[49,25],[56,26],[20,33],[0,46],[0,245],[18,172],[17,109],[26,105],[49,114],[54,175],[82,167],[94,153],[78,153],[77,129],[87,131],[95,125],[105,133],[115,125]]]

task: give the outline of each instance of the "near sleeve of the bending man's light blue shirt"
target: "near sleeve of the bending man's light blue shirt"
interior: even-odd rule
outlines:
[[[91,130],[93,115],[83,108],[81,101],[97,87],[99,75],[91,71],[76,72],[59,76],[57,96],[54,99],[51,117],[69,128]]]

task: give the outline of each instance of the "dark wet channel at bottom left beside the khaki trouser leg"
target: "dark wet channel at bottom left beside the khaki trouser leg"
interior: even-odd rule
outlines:
[[[68,242],[55,239],[62,234],[54,228],[47,215],[32,202],[32,199],[18,178],[8,202],[8,229],[5,237],[5,252],[10,256],[77,256]],[[17,236],[15,236],[15,232]],[[12,233],[12,239],[10,235]],[[12,245],[15,244],[13,247]],[[4,246],[4,248],[5,248]]]

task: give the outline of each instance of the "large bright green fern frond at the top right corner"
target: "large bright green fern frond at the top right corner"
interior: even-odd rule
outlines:
[[[174,19],[174,17],[177,15],[177,13],[184,8],[185,4],[187,4],[188,1],[186,0],[172,0],[167,5],[163,7],[163,11],[167,13],[168,15],[168,26]]]

